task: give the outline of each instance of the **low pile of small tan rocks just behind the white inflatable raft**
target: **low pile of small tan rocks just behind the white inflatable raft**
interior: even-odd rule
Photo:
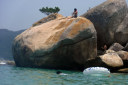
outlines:
[[[117,44],[118,45],[118,44]],[[126,72],[119,69],[128,68],[128,52],[106,50],[105,54],[96,57],[86,63],[86,67],[106,67],[111,72]]]

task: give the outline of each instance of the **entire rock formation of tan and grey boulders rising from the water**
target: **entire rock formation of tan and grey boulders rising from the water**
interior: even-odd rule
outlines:
[[[78,18],[49,15],[15,38],[15,63],[71,70],[102,66],[115,72],[128,67],[128,44],[123,47],[128,43],[127,20],[125,0],[107,0]]]

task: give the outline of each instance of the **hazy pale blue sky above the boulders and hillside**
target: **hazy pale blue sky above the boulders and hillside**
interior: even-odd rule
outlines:
[[[59,14],[71,16],[74,8],[78,16],[106,0],[0,0],[0,29],[18,31],[28,29],[34,22],[46,17],[42,7],[60,8]],[[128,0],[126,0],[128,3]]]

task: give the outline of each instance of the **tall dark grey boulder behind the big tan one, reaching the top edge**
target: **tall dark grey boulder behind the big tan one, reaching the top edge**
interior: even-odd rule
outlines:
[[[107,0],[81,15],[93,22],[99,49],[105,44],[110,46],[116,41],[120,44],[127,43],[127,19],[124,19],[127,18],[127,10],[125,0]]]

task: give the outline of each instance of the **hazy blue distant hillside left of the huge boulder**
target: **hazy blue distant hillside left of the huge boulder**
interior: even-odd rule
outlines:
[[[14,38],[23,32],[20,31],[10,31],[7,29],[0,29],[0,59],[12,60],[11,46]]]

